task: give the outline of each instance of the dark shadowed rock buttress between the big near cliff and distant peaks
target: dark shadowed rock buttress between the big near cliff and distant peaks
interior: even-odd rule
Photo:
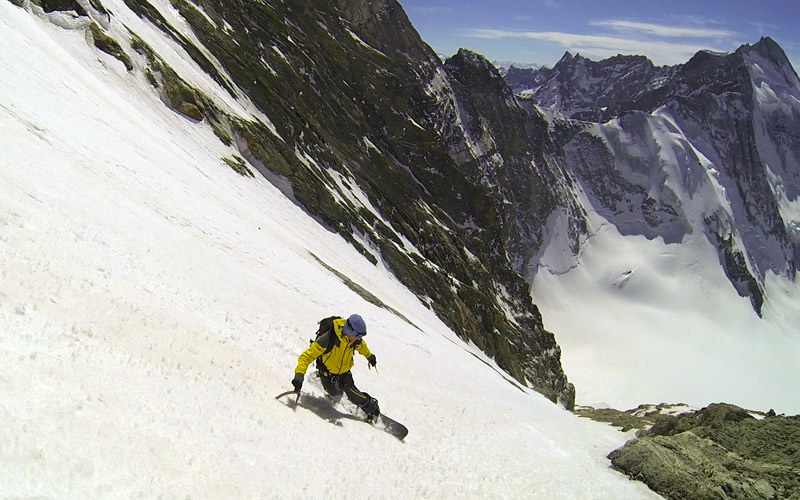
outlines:
[[[497,69],[482,56],[460,50],[445,63],[458,103],[460,127],[445,140],[457,144],[451,155],[471,181],[492,193],[501,217],[504,249],[513,269],[527,275],[543,243],[548,217],[559,207],[573,214],[580,229],[581,209],[572,203],[571,179],[553,161],[557,145],[542,113],[526,111],[514,99]],[[449,116],[438,117],[445,124]]]

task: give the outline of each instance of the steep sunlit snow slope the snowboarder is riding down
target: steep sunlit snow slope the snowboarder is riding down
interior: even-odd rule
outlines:
[[[0,496],[657,498],[608,467],[629,435],[509,383],[232,152],[0,1]],[[380,370],[356,381],[404,443],[313,377],[307,408],[273,399],[315,321],[356,311]]]

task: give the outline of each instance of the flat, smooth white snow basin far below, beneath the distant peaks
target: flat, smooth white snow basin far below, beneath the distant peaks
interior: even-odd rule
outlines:
[[[665,244],[622,236],[599,216],[592,226],[574,267],[554,240],[533,286],[579,404],[724,401],[800,412],[798,283],[769,274],[760,319],[704,236]]]

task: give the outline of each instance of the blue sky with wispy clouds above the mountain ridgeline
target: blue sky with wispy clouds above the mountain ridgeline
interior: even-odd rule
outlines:
[[[727,52],[762,36],[800,70],[800,1],[399,0],[439,54],[465,47],[495,61],[554,65],[569,50],[590,59],[643,54],[684,63],[700,49]]]

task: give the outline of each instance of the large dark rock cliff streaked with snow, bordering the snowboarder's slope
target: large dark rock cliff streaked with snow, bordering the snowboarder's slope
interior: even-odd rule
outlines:
[[[91,9],[84,1],[34,4],[20,5],[91,18],[86,29],[102,38],[98,48],[127,59],[166,105],[208,123],[238,150],[232,168],[273,181],[366,258],[388,265],[519,383],[572,407],[560,349],[518,272],[522,231],[508,223],[538,213],[534,200],[517,209],[515,198],[554,200],[525,144],[529,133],[493,132],[502,148],[515,148],[506,166],[501,147],[471,149],[490,141],[474,133],[482,118],[470,111],[458,120],[471,106],[497,104],[513,109],[531,134],[546,129],[507,89],[499,101],[490,95],[505,84],[488,65],[476,59],[445,68],[393,0],[171,0],[170,11],[147,0],[92,0]],[[249,116],[189,85],[122,24],[129,15],[193,59],[227,93],[223,101],[252,104]],[[493,87],[482,94],[471,81],[459,83],[464,75]],[[462,103],[469,96],[474,101]],[[505,108],[495,110],[495,121]],[[506,171],[536,182],[516,190]],[[535,221],[524,227],[538,230]]]

